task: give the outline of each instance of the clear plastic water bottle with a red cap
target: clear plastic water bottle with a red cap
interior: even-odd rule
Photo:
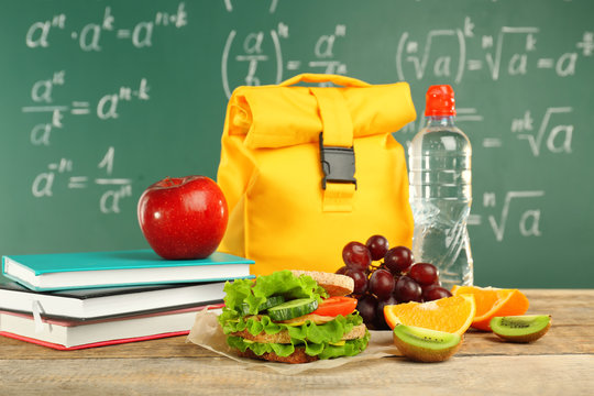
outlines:
[[[472,285],[473,261],[466,220],[472,204],[469,139],[454,125],[454,92],[429,87],[426,125],[408,152],[410,206],[415,218],[416,262],[439,268],[443,287]]]

